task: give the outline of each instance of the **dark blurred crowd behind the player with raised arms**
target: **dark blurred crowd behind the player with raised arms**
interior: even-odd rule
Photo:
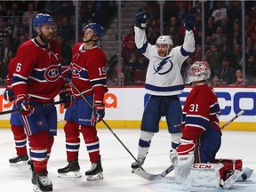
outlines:
[[[245,20],[242,20],[241,1],[206,1],[204,2],[204,14],[202,14],[201,1],[165,1],[163,35],[172,36],[173,47],[183,43],[185,36],[184,16],[188,13],[196,16],[196,29],[194,31],[196,51],[182,66],[181,72],[184,78],[186,78],[187,68],[193,62],[206,60],[212,70],[209,84],[215,86],[256,84],[256,2],[245,1],[244,4]],[[153,1],[141,2],[138,12],[141,11],[147,12],[149,18],[148,42],[156,44],[156,39],[160,36],[159,4]],[[202,15],[205,18],[204,46],[202,46]],[[242,50],[242,22],[245,24],[245,50]],[[202,55],[203,48],[204,58]],[[243,52],[245,52],[245,68],[242,64]],[[124,36],[122,57],[124,59],[122,71],[124,84],[131,84],[131,74],[134,75],[137,73],[136,71],[147,68],[147,60],[141,57],[134,44],[132,26],[130,34]],[[132,63],[139,62],[140,65],[131,64],[131,58],[135,60]],[[141,66],[143,67],[141,68]],[[245,69],[246,79],[243,78],[242,69]]]

